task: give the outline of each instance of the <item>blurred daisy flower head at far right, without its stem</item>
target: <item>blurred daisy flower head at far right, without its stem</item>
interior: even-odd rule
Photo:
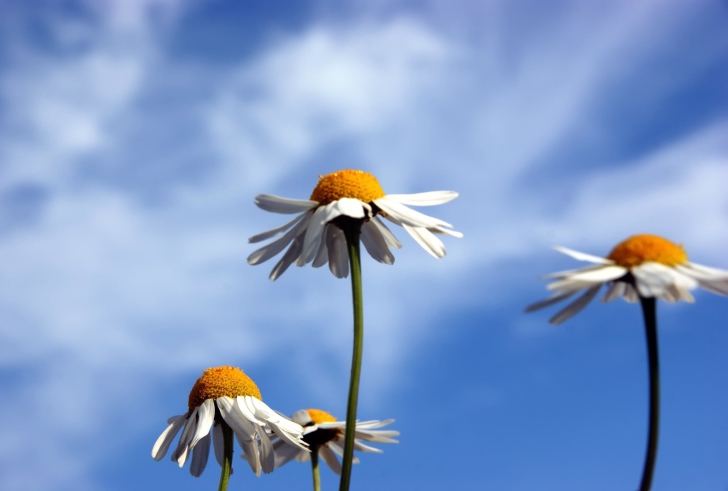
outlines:
[[[533,312],[565,300],[576,292],[583,295],[553,316],[549,322],[560,324],[581,311],[604,284],[609,287],[602,302],[623,297],[636,302],[639,297],[656,297],[668,302],[693,302],[690,290],[701,287],[718,295],[728,295],[728,271],[688,261],[681,245],[656,235],[634,235],[617,245],[606,257],[592,256],[565,247],[556,250],[592,266],[547,275],[553,279],[546,288],[554,294],[529,305]]]

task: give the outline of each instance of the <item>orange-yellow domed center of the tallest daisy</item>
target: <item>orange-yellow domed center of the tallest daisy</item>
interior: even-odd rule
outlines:
[[[384,191],[376,177],[361,170],[345,169],[319,176],[316,189],[311,193],[311,200],[318,201],[323,206],[341,198],[354,198],[371,203],[382,196]]]

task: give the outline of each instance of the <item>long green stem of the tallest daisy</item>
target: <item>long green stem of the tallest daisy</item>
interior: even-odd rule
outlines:
[[[339,491],[348,491],[351,481],[356,406],[359,399],[359,377],[361,375],[361,358],[364,347],[364,306],[361,286],[361,255],[359,251],[361,226],[362,222],[360,220],[347,220],[342,227],[346,236],[346,246],[349,251],[349,264],[351,266],[351,295],[354,304],[354,351],[351,357],[351,381],[349,382],[349,400],[346,407],[346,434]]]

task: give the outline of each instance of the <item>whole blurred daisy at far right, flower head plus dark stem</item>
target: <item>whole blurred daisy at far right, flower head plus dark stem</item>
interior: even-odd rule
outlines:
[[[656,299],[667,302],[694,301],[690,290],[703,288],[718,295],[728,295],[728,271],[701,266],[688,260],[681,245],[656,235],[635,235],[618,244],[606,258],[584,254],[564,247],[556,250],[579,261],[592,263],[585,268],[547,275],[554,280],[547,289],[554,294],[526,308],[533,312],[556,304],[584,291],[576,300],[554,315],[549,322],[561,324],[580,312],[608,285],[602,302],[622,297],[640,302],[645,323],[649,367],[649,425],[647,451],[640,491],[652,486],[660,421],[660,365],[657,346]]]

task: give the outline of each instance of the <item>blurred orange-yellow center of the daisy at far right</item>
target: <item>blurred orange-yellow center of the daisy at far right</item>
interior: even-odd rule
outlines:
[[[612,249],[607,259],[625,268],[639,266],[645,262],[677,266],[688,262],[682,245],[674,244],[657,235],[633,235]]]

